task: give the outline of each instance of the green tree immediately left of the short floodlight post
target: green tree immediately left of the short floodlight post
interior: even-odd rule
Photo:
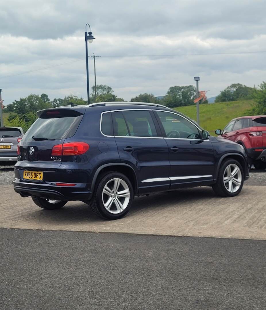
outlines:
[[[184,105],[194,104],[196,97],[196,88],[189,86],[172,86],[167,91],[164,99],[164,104],[170,108],[181,107]]]

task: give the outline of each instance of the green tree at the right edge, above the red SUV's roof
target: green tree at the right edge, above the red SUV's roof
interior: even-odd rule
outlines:
[[[262,82],[257,88],[253,88],[252,98],[255,104],[247,111],[246,115],[266,115],[266,82]]]

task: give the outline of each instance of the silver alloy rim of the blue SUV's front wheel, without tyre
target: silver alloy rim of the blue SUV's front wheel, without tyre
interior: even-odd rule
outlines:
[[[230,193],[238,191],[242,183],[242,174],[236,164],[228,165],[223,173],[223,184]]]

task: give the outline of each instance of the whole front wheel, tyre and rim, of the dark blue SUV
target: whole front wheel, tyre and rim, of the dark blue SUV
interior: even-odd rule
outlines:
[[[234,159],[222,162],[217,182],[212,186],[214,192],[222,197],[237,196],[243,187],[244,172],[241,164]]]

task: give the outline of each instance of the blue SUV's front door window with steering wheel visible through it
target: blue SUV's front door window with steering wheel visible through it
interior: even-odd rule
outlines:
[[[200,133],[196,126],[174,113],[157,112],[169,138],[199,139]]]

